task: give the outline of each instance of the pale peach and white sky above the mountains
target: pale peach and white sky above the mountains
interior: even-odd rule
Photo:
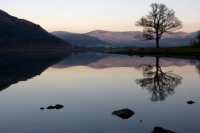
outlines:
[[[166,4],[182,21],[182,31],[200,29],[200,0],[0,0],[0,9],[47,31],[136,31],[152,2]]]

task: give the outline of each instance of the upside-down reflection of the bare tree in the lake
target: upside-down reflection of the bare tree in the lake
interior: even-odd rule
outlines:
[[[169,95],[173,95],[174,89],[181,83],[182,77],[172,72],[163,72],[159,65],[159,57],[156,57],[155,69],[152,65],[143,67],[142,79],[136,83],[146,88],[151,94],[151,101],[164,101]]]

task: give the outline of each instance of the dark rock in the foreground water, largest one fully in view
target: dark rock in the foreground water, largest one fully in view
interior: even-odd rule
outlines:
[[[135,112],[133,112],[130,109],[121,109],[121,110],[113,111],[112,114],[120,117],[121,119],[129,119],[135,114]]]

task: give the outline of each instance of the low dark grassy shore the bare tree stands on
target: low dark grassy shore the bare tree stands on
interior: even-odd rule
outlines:
[[[166,57],[195,57],[200,58],[200,47],[171,47],[171,48],[75,48],[74,52],[101,52],[110,54],[126,54],[141,56]]]

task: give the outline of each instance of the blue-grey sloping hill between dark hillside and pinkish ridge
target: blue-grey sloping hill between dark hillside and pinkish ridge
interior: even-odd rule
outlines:
[[[53,32],[52,34],[65,41],[68,41],[73,46],[101,47],[110,45],[108,42],[102,41],[96,37],[92,37],[86,34],[77,34],[63,31]]]

